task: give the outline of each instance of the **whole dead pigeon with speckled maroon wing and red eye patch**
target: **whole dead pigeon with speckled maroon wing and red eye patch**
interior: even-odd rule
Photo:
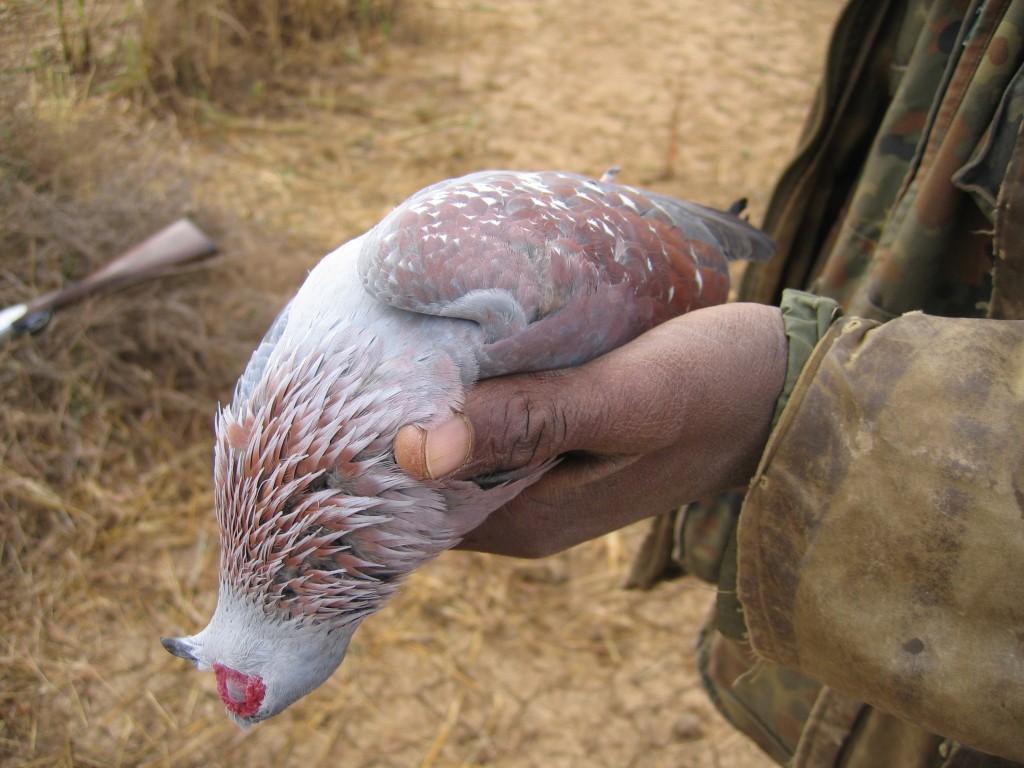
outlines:
[[[423,481],[391,454],[483,378],[580,365],[725,301],[766,236],[728,214],[559,172],[493,171],[413,196],[328,255],[217,422],[217,610],[171,652],[248,725],[340,664],[359,622],[548,468]]]

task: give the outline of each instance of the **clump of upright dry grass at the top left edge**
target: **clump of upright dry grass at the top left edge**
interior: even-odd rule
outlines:
[[[38,4],[29,4],[30,7]],[[100,90],[170,109],[252,114],[386,45],[401,0],[50,0],[48,54]],[[272,92],[272,97],[268,95]]]

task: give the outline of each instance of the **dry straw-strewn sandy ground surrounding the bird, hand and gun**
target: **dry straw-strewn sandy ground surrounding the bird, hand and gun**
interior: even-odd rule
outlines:
[[[249,735],[157,642],[213,608],[216,402],[326,248],[487,166],[763,210],[836,8],[592,5],[0,5],[0,306],[186,213],[223,251],[0,350],[0,764],[764,765],[699,690],[710,592],[617,588],[637,530],[445,555]],[[760,36],[786,55],[744,63]]]

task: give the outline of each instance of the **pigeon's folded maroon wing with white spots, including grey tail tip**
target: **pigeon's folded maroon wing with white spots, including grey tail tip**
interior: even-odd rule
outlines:
[[[484,171],[414,195],[366,237],[392,306],[478,323],[481,376],[577,365],[725,301],[731,259],[774,245],[738,217],[557,171]]]

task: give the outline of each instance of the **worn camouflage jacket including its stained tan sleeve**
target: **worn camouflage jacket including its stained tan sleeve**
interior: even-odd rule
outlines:
[[[846,317],[745,497],[652,540],[719,583],[707,686],[779,762],[1024,762],[1022,65],[1024,0],[849,3],[740,288]]]

